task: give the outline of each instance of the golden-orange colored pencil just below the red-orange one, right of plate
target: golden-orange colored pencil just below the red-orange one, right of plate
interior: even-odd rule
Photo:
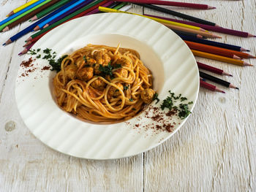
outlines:
[[[238,59],[227,58],[227,57],[223,57],[223,56],[219,56],[219,55],[214,55],[211,53],[205,53],[205,52],[198,51],[198,50],[191,50],[191,51],[195,56],[202,57],[202,58],[210,58],[210,59],[213,59],[216,61],[222,61],[222,62],[225,62],[228,64],[235,64],[235,65],[239,65],[239,66],[252,66],[252,64],[248,64],[245,61],[241,61]]]

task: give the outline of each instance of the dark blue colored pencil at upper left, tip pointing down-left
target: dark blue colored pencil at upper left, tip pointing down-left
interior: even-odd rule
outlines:
[[[48,18],[52,17],[53,15],[56,15],[56,13],[60,12],[61,10],[65,9],[66,7],[69,7],[70,5],[74,4],[78,0],[70,1],[68,4],[64,4],[62,7],[59,7],[59,9],[56,9],[54,12],[51,12],[49,15],[46,15],[44,18],[38,20],[36,23],[33,23],[31,26],[28,26],[27,28],[24,28],[22,31],[18,32],[18,34],[15,34],[14,36],[10,37],[10,39],[7,40],[3,45],[8,45],[20,37],[23,37],[23,35],[29,33],[30,31],[33,31],[33,29],[39,25],[39,23],[42,23],[44,20],[47,20]]]

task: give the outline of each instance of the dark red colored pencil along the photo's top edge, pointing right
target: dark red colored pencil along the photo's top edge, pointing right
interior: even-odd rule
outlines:
[[[216,7],[208,6],[207,4],[191,4],[177,1],[159,1],[159,0],[115,0],[119,2],[129,2],[135,4],[159,4],[174,7],[187,7],[193,9],[215,9]]]

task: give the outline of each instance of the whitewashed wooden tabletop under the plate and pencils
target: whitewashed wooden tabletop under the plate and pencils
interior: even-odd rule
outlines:
[[[256,33],[256,2],[188,0],[217,7],[174,10],[214,21],[220,26]],[[26,1],[2,0],[0,19]],[[141,13],[140,7],[131,12]],[[149,14],[159,14],[145,9]],[[161,14],[159,14],[161,15]],[[167,16],[167,15],[165,15]],[[16,26],[0,35],[4,43],[29,26]],[[256,54],[256,39],[220,34],[221,42],[241,45]],[[0,46],[0,191],[256,191],[256,72],[211,62],[233,74],[223,77],[240,91],[226,94],[200,88],[189,120],[167,142],[146,153],[111,161],[73,158],[51,150],[23,123],[15,104],[16,74],[23,61],[18,53],[28,36]],[[256,64],[256,60],[249,60]],[[7,123],[15,123],[8,129]]]

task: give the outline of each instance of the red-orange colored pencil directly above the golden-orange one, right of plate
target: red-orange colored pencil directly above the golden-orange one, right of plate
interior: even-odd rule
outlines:
[[[189,42],[189,41],[186,41],[186,40],[184,42],[186,42],[187,45],[189,46],[189,48],[192,49],[192,50],[200,50],[200,51],[203,51],[203,52],[206,52],[206,53],[222,55],[222,56],[225,56],[225,57],[228,57],[228,55],[230,55],[231,58],[232,58],[233,55],[236,55],[239,58],[256,58],[253,55],[249,55],[248,53],[243,53],[243,52],[236,51],[236,50],[227,50],[227,49],[224,49],[224,48],[221,48],[221,47],[214,47],[214,46],[211,46],[211,45],[204,45],[204,44],[201,44],[201,43]]]

